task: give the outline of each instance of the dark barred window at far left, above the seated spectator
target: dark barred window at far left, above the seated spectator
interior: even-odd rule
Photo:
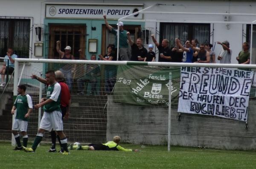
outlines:
[[[0,57],[8,47],[21,58],[29,58],[30,19],[0,19]]]

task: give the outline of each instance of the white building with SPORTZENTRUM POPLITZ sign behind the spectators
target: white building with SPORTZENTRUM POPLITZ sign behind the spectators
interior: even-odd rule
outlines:
[[[19,57],[59,58],[55,50],[57,40],[61,40],[61,49],[67,45],[71,46],[76,59],[79,59],[79,49],[83,49],[87,58],[90,58],[91,54],[104,54],[106,46],[113,44],[114,39],[106,30],[102,15],[107,14],[109,23],[115,26],[117,19],[155,3],[162,5],[147,11],[188,13],[140,13],[131,17],[136,21],[124,21],[124,28],[134,37],[143,37],[145,47],[152,43],[150,36],[148,38],[150,34],[156,34],[158,41],[169,39],[170,46],[173,45],[175,37],[182,41],[197,38],[199,43],[212,43],[218,55],[221,46],[216,44],[216,41],[228,40],[233,49],[231,63],[237,63],[236,56],[242,49],[242,43],[250,42],[249,23],[256,20],[256,2],[253,0],[1,0],[0,56],[3,57],[7,47],[12,46]],[[222,15],[224,13],[227,15]],[[140,19],[157,22],[143,22]],[[241,23],[216,23],[218,21]],[[253,30],[253,37],[256,37],[255,28]],[[42,38],[38,38],[36,33],[43,35]],[[253,64],[256,62],[254,39],[251,58]],[[41,43],[43,54],[40,50]],[[90,48],[89,43],[92,45]],[[35,46],[38,46],[36,53]]]

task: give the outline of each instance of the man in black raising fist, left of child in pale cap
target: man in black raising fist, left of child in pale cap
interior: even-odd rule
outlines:
[[[131,61],[143,61],[148,51],[143,47],[141,38],[137,38],[135,44],[131,40],[130,32],[127,32],[127,37],[131,45]]]

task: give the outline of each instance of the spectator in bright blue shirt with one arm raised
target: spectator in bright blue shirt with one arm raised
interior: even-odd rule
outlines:
[[[192,63],[193,49],[191,48],[189,40],[185,42],[185,47],[181,45],[180,40],[178,38],[176,38],[175,41],[177,43],[177,46],[180,48],[178,52],[183,52],[183,63]]]

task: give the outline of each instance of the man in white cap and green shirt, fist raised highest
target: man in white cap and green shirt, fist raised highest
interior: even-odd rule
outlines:
[[[117,48],[117,30],[108,24],[106,15],[103,15],[108,30],[115,35],[115,49]],[[116,24],[118,25],[118,24]],[[124,23],[119,22],[119,58],[120,60],[129,60],[127,31],[123,28]]]

